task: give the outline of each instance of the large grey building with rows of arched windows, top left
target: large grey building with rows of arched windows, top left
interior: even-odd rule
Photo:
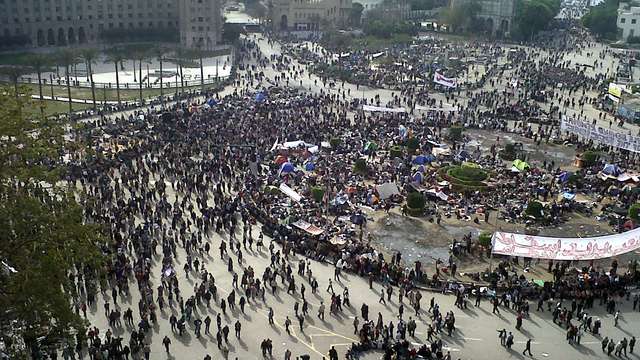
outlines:
[[[180,31],[185,46],[194,38],[215,46],[222,7],[220,0],[0,0],[0,37],[22,38],[27,46],[97,43],[118,31]]]

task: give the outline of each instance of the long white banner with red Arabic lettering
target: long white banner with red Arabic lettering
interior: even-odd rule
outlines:
[[[558,238],[495,232],[494,254],[534,259],[591,260],[609,258],[640,248],[640,228],[591,238]]]

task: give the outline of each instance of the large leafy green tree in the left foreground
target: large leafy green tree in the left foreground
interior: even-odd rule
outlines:
[[[85,269],[93,276],[102,259],[101,229],[83,224],[82,209],[60,182],[63,124],[21,116],[29,96],[0,88],[0,329],[3,339],[26,344],[10,345],[11,359],[37,358],[40,337],[60,343],[86,331],[71,306],[69,274]]]

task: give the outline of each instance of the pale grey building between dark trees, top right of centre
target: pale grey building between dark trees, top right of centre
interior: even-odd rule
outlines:
[[[451,0],[450,6],[470,0]],[[515,0],[476,0],[480,5],[477,17],[484,20],[485,28],[497,37],[509,37],[516,17]]]

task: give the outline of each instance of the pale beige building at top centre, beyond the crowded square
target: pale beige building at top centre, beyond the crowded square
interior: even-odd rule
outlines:
[[[346,26],[352,0],[271,0],[269,17],[277,31]]]

